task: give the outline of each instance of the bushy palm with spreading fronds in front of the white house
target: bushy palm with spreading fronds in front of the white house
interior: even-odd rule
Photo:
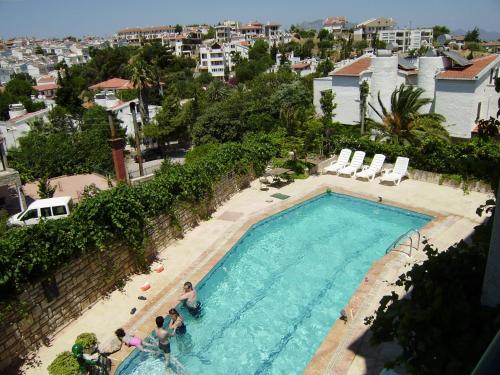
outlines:
[[[423,92],[419,87],[402,84],[391,95],[390,112],[382,103],[380,92],[378,93],[382,113],[373,105],[369,105],[382,121],[367,119],[367,123],[378,130],[379,140],[406,145],[419,143],[425,135],[449,140],[449,134],[442,125],[445,120],[442,115],[419,112],[423,106],[432,102],[429,98],[421,98]]]

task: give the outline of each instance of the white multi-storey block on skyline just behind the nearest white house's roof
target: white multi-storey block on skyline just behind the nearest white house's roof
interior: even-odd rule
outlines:
[[[397,45],[399,52],[407,52],[420,47],[432,46],[434,34],[432,29],[396,29],[380,30],[377,35],[378,39],[387,45]]]

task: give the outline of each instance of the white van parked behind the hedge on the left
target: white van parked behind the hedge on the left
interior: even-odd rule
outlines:
[[[11,216],[7,221],[7,225],[33,225],[38,224],[41,219],[61,219],[69,216],[72,209],[73,201],[71,197],[39,199],[31,203],[25,211]]]

